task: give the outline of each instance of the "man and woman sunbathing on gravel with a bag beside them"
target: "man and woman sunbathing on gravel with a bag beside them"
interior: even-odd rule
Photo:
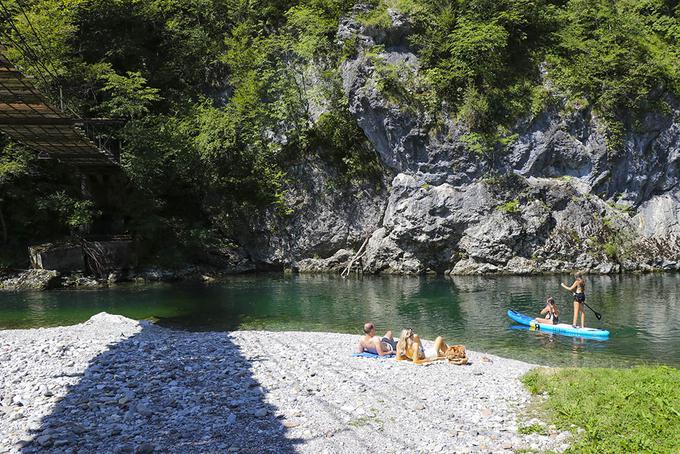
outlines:
[[[378,337],[376,336],[375,325],[368,322],[364,325],[364,335],[359,339],[357,352],[368,352],[379,356],[396,355],[398,361],[410,360],[416,364],[423,364],[448,358],[451,356],[451,350],[454,347],[462,346],[449,348],[444,342],[444,338],[439,336],[435,339],[432,347],[425,348],[420,337],[410,328],[401,331],[398,341],[395,341],[392,337],[392,331],[387,331],[384,336]],[[462,351],[464,354],[464,347]]]

